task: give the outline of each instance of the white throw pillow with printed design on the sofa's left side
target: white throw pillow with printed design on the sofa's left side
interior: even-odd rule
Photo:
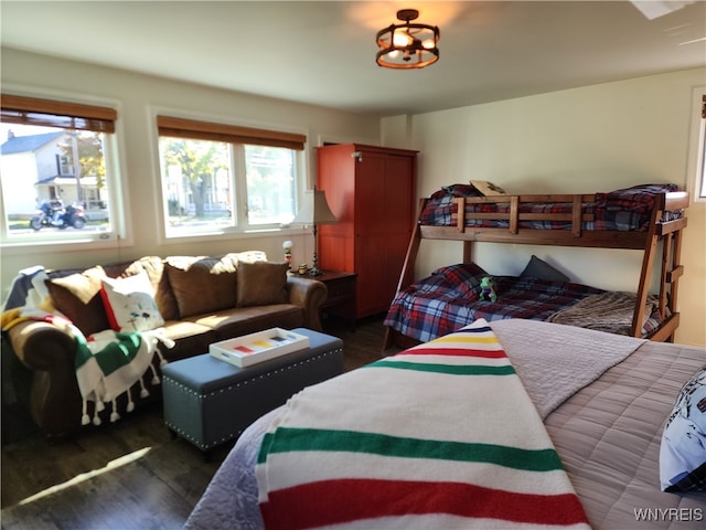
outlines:
[[[100,296],[116,331],[148,331],[164,325],[146,272],[126,278],[104,278]]]

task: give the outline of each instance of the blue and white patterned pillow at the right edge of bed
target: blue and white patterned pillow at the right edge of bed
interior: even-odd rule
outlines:
[[[682,386],[660,446],[663,491],[706,491],[706,367]]]

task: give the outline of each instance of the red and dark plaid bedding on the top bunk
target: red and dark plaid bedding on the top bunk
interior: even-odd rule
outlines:
[[[582,212],[593,214],[593,221],[581,223],[581,230],[648,230],[650,214],[654,208],[654,197],[659,193],[676,191],[675,184],[641,184],[610,193],[597,193],[596,202],[584,203]],[[422,225],[450,226],[452,215],[458,211],[453,199],[459,197],[483,197],[473,186],[453,184],[435,192],[419,218]],[[506,213],[510,204],[467,204],[466,212],[472,213]],[[571,203],[532,203],[521,204],[521,213],[571,213]],[[676,219],[681,212],[668,212],[667,219]],[[507,227],[507,221],[486,219],[468,219],[467,226],[474,227]],[[520,227],[535,230],[570,230],[570,221],[521,221]]]

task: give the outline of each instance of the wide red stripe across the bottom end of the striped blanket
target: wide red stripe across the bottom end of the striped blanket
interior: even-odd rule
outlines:
[[[588,523],[574,494],[517,494],[460,483],[322,480],[270,491],[268,496],[269,500],[260,505],[268,530],[435,513],[518,523]],[[314,509],[312,499],[317,499]]]

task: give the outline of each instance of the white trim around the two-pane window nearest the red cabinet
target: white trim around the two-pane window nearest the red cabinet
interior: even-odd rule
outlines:
[[[162,182],[162,169],[160,162],[160,152],[159,152],[159,130],[157,127],[157,116],[172,116],[174,118],[184,118],[184,119],[194,119],[199,121],[210,121],[214,124],[223,124],[223,125],[232,125],[235,127],[252,127],[259,129],[268,129],[268,130],[279,130],[282,132],[295,132],[301,134],[309,138],[309,131],[306,128],[301,127],[288,127],[282,124],[272,124],[266,121],[246,121],[246,120],[234,120],[228,119],[222,115],[213,115],[206,113],[194,113],[194,112],[185,112],[183,108],[172,108],[172,107],[163,107],[163,106],[148,106],[148,118],[150,123],[150,149],[151,149],[151,159],[152,159],[152,173],[154,174],[154,211],[157,212],[157,222],[159,225],[159,233],[157,234],[158,244],[167,245],[167,244],[180,244],[186,242],[193,242],[194,240],[207,242],[207,241],[223,241],[224,239],[233,239],[233,240],[247,240],[253,237],[261,237],[267,235],[272,236],[295,236],[309,234],[310,230],[308,227],[291,227],[291,226],[279,226],[279,227],[247,227],[240,225],[243,218],[246,216],[245,208],[240,202],[243,197],[246,194],[238,194],[240,192],[246,192],[246,183],[245,181],[240,182],[238,179],[235,179],[235,192],[238,198],[238,204],[236,204],[236,226],[227,227],[227,229],[217,229],[212,232],[201,232],[193,234],[180,234],[180,235],[167,235],[167,211],[163,201],[163,182]],[[302,151],[298,151],[298,163],[299,169],[297,173],[297,203],[301,204],[303,200],[303,193],[309,186],[309,157],[310,157],[310,144],[309,141],[304,146]]]

